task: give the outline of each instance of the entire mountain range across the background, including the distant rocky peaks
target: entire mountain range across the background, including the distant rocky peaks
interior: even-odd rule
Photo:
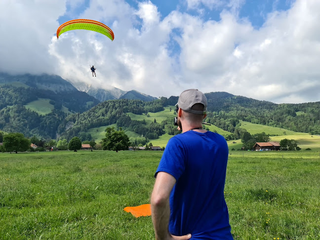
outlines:
[[[80,88],[84,91],[79,91]],[[233,135],[228,136],[229,139],[239,138],[240,120],[320,134],[320,102],[275,104],[227,92],[205,95],[208,100],[205,120],[231,132]],[[177,100],[177,96],[158,99],[136,90],[126,92],[115,87],[99,89],[83,83],[75,87],[55,75],[0,73],[0,130],[41,138],[63,136],[68,140],[79,135],[82,140],[90,140],[90,128],[117,123],[118,127],[140,136],[148,134],[148,138],[154,139],[162,134],[161,129],[174,129],[166,126],[172,120],[149,126],[145,121],[131,120],[128,113],[149,116],[148,113],[163,111],[165,106],[174,106]]]

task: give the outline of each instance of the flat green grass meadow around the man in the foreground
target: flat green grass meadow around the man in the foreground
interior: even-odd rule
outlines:
[[[149,203],[162,152],[0,154],[0,239],[155,239]],[[232,152],[225,199],[234,239],[320,239],[316,152]]]

